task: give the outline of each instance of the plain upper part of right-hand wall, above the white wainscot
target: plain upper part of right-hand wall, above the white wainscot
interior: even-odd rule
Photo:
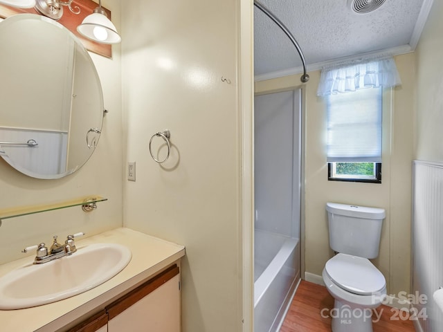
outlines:
[[[419,160],[443,161],[443,3],[434,1],[417,46],[416,151]]]

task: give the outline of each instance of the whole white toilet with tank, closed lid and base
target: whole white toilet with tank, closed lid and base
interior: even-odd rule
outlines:
[[[379,255],[385,210],[340,203],[327,203],[326,210],[336,252],[322,273],[334,297],[332,331],[372,332],[372,310],[386,297],[386,279],[369,259]]]

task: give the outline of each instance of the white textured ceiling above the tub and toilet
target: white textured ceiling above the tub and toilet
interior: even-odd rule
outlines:
[[[372,12],[357,14],[349,1],[260,0],[297,39],[308,70],[365,53],[413,50],[433,2],[386,0]],[[258,8],[254,9],[254,53],[256,78],[301,71],[296,48]]]

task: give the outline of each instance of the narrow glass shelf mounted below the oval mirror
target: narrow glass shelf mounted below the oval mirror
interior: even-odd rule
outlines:
[[[80,206],[86,205],[92,210],[93,204],[107,200],[108,199],[105,199],[100,196],[86,196],[80,199],[73,199],[71,201],[63,201],[60,203],[52,203],[46,205],[28,205],[28,206],[21,206],[19,208],[0,209],[0,220],[14,218],[16,216],[26,216],[27,214],[71,208],[72,206],[79,206],[79,205]]]

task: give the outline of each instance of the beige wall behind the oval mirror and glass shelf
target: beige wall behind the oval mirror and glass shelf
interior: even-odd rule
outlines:
[[[120,26],[118,0],[103,1]],[[33,33],[30,31],[29,33]],[[21,249],[34,244],[50,243],[57,234],[86,232],[87,236],[122,225],[122,127],[120,46],[113,46],[113,59],[91,53],[102,83],[105,116],[98,147],[78,172],[59,180],[39,180],[24,176],[0,158],[0,209],[22,205],[46,204],[99,194],[108,201],[87,214],[81,208],[5,219],[0,228],[0,263],[23,257]],[[33,255],[32,253],[29,255]]]

